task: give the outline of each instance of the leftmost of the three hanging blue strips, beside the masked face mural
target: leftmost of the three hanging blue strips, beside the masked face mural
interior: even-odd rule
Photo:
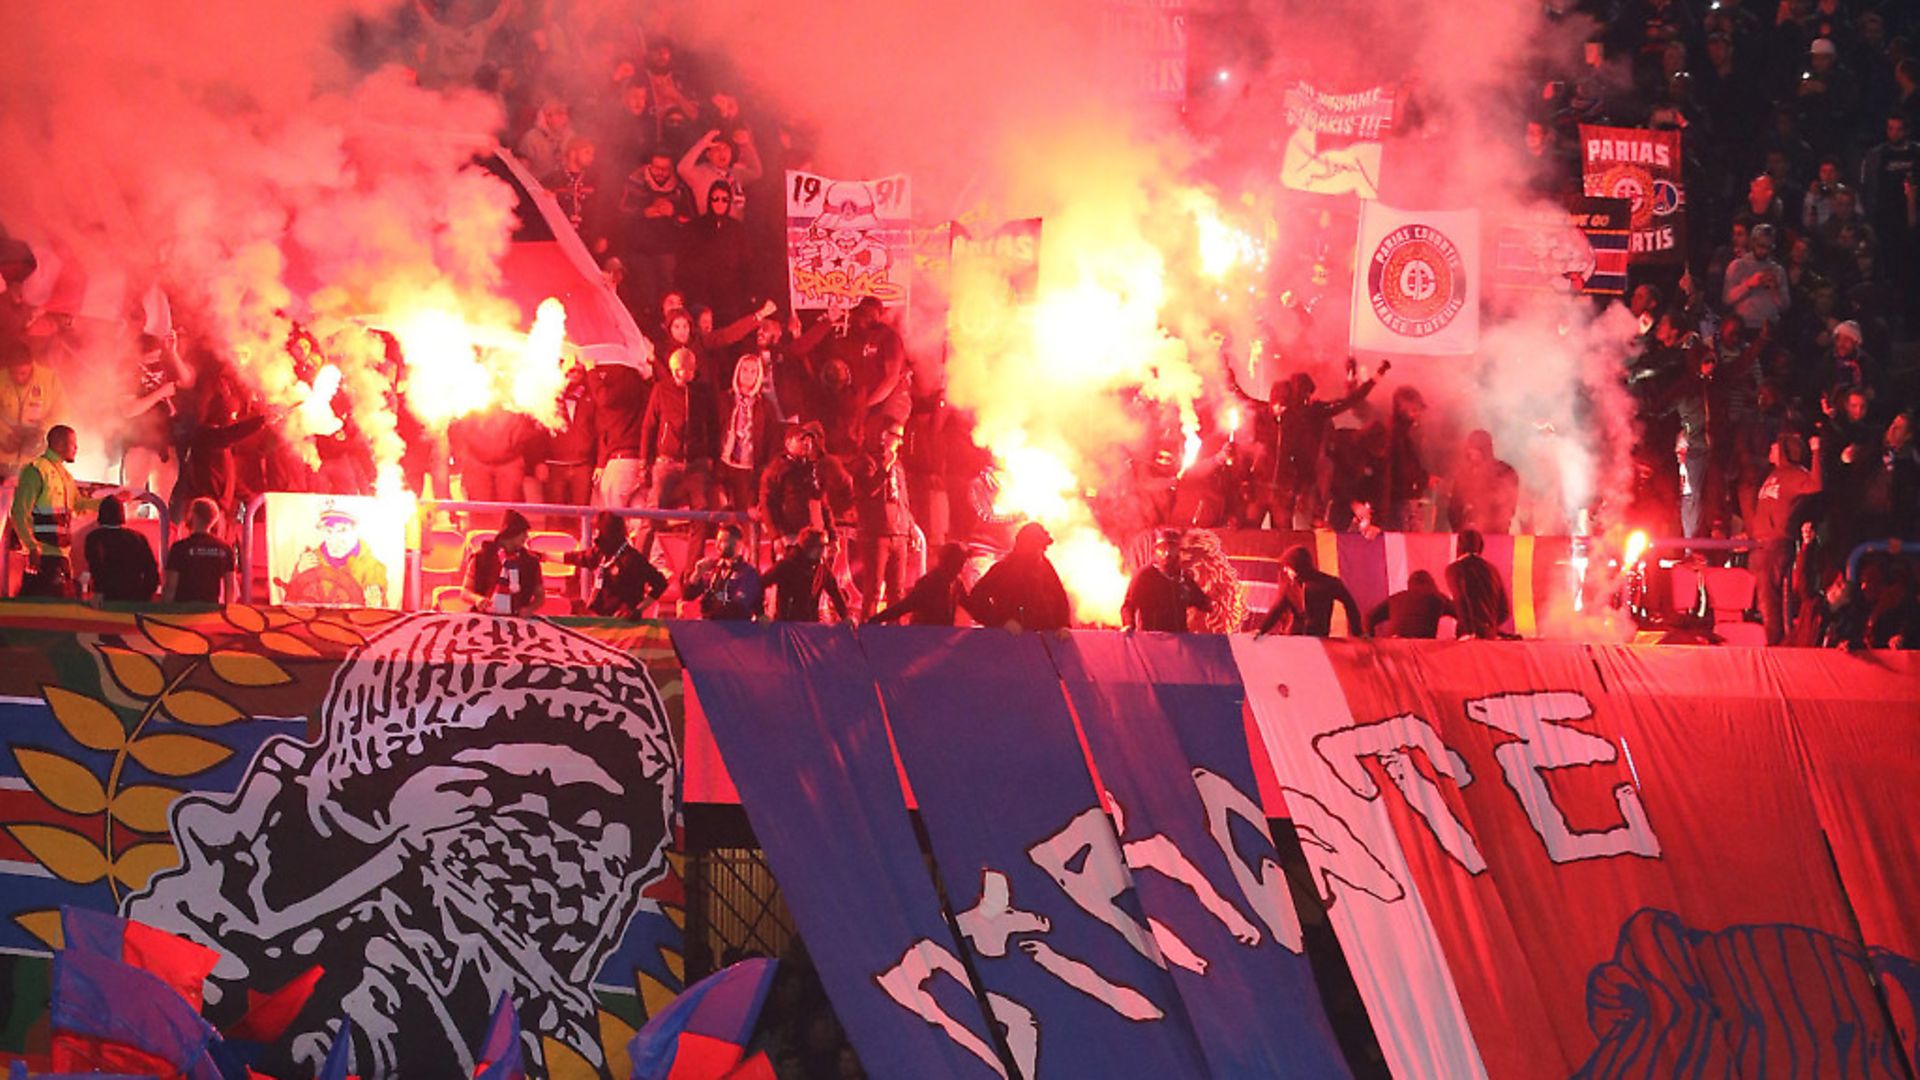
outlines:
[[[868,1076],[1006,1076],[845,628],[684,623],[674,646]]]

